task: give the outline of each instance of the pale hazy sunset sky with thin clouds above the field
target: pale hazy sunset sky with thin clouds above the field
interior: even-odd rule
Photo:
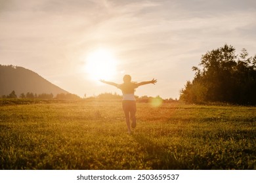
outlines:
[[[136,95],[179,99],[192,67],[224,44],[256,54],[255,0],[0,0],[0,64],[80,97],[121,95],[98,78],[131,75],[158,80]]]

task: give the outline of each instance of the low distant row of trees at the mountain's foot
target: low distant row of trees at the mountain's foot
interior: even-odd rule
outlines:
[[[3,95],[2,98],[7,99],[16,99],[18,96],[16,95],[15,91],[13,90],[9,95]],[[72,94],[72,93],[58,93],[55,97],[53,93],[41,93],[37,95],[37,93],[21,93],[19,98],[21,99],[81,99],[79,96]]]

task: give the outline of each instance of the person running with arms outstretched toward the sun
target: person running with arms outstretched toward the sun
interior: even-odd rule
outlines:
[[[135,129],[137,122],[136,122],[136,99],[135,99],[135,88],[138,88],[139,86],[142,86],[144,84],[156,84],[157,80],[154,78],[150,81],[144,81],[144,82],[131,82],[131,76],[125,75],[123,76],[123,84],[116,84],[114,82],[108,82],[105,80],[100,80],[100,82],[103,82],[105,84],[110,84],[112,86],[116,86],[119,88],[123,93],[123,112],[125,112],[125,120],[128,127],[128,133],[131,133],[131,127],[132,129]],[[130,125],[130,118],[132,120],[132,123]]]

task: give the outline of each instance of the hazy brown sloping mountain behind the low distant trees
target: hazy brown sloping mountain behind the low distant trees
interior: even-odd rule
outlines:
[[[21,93],[26,95],[28,92],[53,93],[54,96],[58,93],[69,93],[29,69],[0,65],[0,97],[9,95],[13,90],[18,97]]]

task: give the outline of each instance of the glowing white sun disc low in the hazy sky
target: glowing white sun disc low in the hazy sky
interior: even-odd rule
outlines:
[[[85,70],[93,80],[110,80],[116,75],[116,59],[108,50],[95,50],[87,56]]]

